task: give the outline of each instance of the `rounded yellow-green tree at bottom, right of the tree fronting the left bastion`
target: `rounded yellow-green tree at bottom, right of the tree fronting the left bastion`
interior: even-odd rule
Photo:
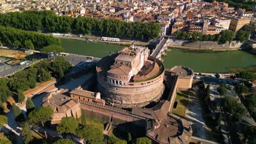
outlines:
[[[77,135],[86,140],[86,142],[98,142],[104,139],[101,129],[94,125],[85,125],[77,129]]]

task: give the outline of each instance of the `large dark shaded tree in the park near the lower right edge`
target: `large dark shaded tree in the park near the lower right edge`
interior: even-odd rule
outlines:
[[[223,110],[228,113],[230,121],[239,123],[246,113],[245,107],[229,97],[223,98]]]

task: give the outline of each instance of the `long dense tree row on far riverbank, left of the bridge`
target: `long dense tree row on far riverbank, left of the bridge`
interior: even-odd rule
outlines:
[[[158,23],[124,22],[119,20],[97,20],[90,17],[56,16],[53,11],[25,11],[24,13],[0,14],[0,25],[26,31],[59,33],[97,33],[107,37],[131,35],[138,39],[159,37]]]

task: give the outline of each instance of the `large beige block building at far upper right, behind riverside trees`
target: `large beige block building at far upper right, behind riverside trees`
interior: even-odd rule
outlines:
[[[249,17],[234,17],[229,15],[226,15],[225,17],[226,19],[231,20],[229,30],[235,33],[251,22],[251,18]]]

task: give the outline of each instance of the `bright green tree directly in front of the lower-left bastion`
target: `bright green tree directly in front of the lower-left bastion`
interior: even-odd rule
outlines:
[[[58,124],[56,130],[59,134],[75,134],[79,122],[74,117],[62,117],[61,122]]]

